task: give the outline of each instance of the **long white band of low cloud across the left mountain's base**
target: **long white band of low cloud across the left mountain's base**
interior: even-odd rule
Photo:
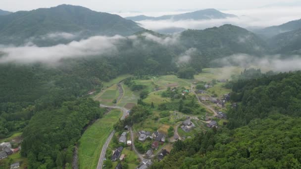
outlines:
[[[116,44],[125,39],[121,36],[95,36],[87,40],[73,41],[50,47],[38,47],[28,43],[25,46],[0,46],[0,63],[57,63],[64,58],[86,57],[117,51]]]

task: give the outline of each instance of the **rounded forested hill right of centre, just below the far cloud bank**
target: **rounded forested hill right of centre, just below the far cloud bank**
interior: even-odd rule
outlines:
[[[180,41],[187,48],[200,50],[205,63],[235,53],[260,55],[267,51],[267,44],[258,36],[233,25],[187,30],[181,33]]]

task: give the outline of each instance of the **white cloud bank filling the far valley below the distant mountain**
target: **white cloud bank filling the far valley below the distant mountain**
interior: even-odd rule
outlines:
[[[222,12],[235,14],[238,17],[211,20],[143,20],[138,23],[141,24],[142,27],[153,31],[159,31],[171,27],[206,29],[214,26],[218,27],[224,24],[233,24],[243,28],[263,28],[280,25],[301,18],[301,6],[262,7],[254,9],[225,10]]]

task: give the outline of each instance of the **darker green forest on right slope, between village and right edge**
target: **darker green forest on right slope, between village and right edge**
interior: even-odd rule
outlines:
[[[233,84],[231,100],[240,102],[228,112],[228,127],[245,126],[256,118],[281,113],[301,117],[301,72],[264,74]]]

